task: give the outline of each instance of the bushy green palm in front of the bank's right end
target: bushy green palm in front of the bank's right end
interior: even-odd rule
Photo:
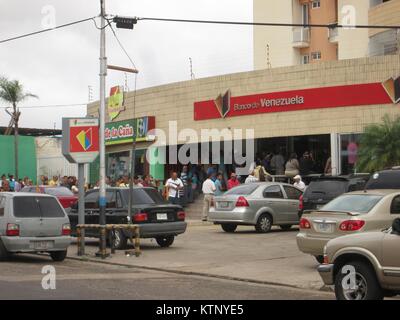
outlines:
[[[394,120],[389,115],[381,124],[364,129],[358,153],[359,172],[374,172],[400,165],[400,116]]]

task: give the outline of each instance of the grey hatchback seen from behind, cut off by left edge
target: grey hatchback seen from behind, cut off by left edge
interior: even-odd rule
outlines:
[[[32,193],[0,194],[0,260],[11,253],[48,252],[63,261],[71,226],[56,197]]]

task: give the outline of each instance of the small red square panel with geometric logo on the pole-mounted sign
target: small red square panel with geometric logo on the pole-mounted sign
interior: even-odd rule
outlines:
[[[99,128],[97,126],[71,127],[70,152],[99,151]]]

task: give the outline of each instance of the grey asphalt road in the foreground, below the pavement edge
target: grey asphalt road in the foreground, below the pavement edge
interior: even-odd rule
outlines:
[[[56,270],[56,289],[42,288],[43,266]],[[333,299],[331,293],[187,276],[160,271],[16,255],[0,263],[0,299]]]

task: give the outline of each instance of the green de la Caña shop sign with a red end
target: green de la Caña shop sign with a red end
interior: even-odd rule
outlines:
[[[155,129],[155,117],[110,122],[106,124],[104,137],[106,145],[115,145],[133,142],[136,134],[137,142],[152,141],[148,136],[150,130]]]

